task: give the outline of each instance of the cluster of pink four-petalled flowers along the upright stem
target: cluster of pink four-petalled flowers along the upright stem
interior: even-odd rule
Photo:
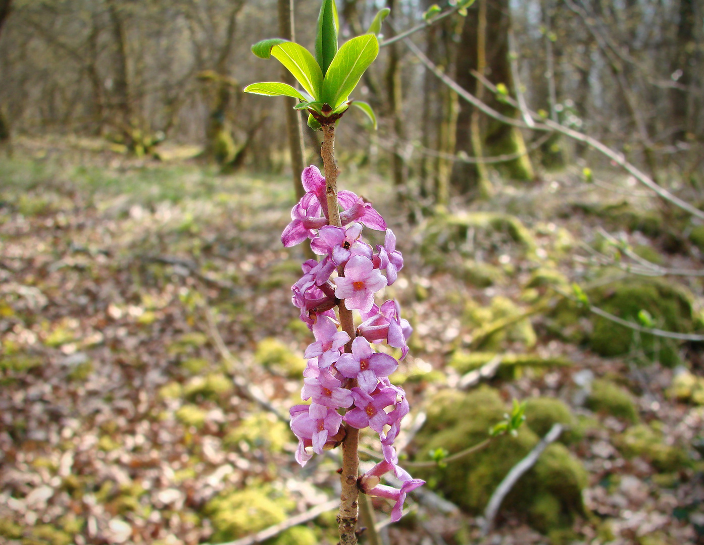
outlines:
[[[398,361],[376,352],[372,343],[386,342],[401,349],[401,359],[408,353],[413,330],[401,318],[398,302],[375,304],[375,293],[396,281],[403,257],[396,250],[393,231],[370,203],[351,191],[340,191],[342,227],[328,225],[325,178],[310,166],[301,179],[306,195],[291,211],[282,243],[288,248],[310,238],[310,248],[322,257],[305,262],[303,276],[291,288],[301,319],[315,336],[306,350],[308,366],[301,390],[301,397],[310,399],[310,404],[291,408],[291,429],[298,437],[296,461],[303,466],[311,453],[337,447],[345,437],[342,423],[371,428],[379,434],[384,461],[359,478],[359,487],[365,494],[395,501],[391,519],[396,521],[401,518],[406,494],[423,481],[398,466],[394,440],[408,414],[406,392],[389,381]],[[384,245],[377,245],[376,251],[361,239],[364,226],[386,232]],[[336,270],[344,276],[333,277]],[[339,331],[334,308],[340,304],[361,316],[353,340]],[[344,352],[350,341],[351,351]],[[401,480],[400,489],[379,484],[380,477],[389,472]]]

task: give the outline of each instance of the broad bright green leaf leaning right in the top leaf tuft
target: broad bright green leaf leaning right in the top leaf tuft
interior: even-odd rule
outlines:
[[[322,82],[322,102],[327,102],[334,110],[346,101],[378,54],[379,41],[372,34],[346,42],[327,69]]]

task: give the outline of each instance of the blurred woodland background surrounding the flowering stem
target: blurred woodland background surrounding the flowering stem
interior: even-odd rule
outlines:
[[[291,5],[313,49],[318,0],[0,0],[0,542],[215,544],[299,513],[267,543],[337,542],[338,462],[293,460],[312,338],[279,241],[320,134],[241,92],[282,80],[249,48]],[[379,129],[346,113],[337,139],[415,328],[392,379],[428,485],[396,525],[374,502],[382,541],[704,543],[704,6],[337,6],[341,41],[391,8],[352,94]],[[517,437],[436,462],[511,399]]]

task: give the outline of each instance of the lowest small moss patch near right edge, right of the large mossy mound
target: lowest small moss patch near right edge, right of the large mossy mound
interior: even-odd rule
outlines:
[[[688,460],[684,449],[665,444],[662,432],[646,424],[627,429],[615,438],[615,444],[625,457],[642,456],[662,472],[680,470]]]

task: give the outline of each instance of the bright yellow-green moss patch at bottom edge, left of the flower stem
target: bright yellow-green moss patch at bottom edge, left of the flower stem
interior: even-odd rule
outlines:
[[[230,541],[278,524],[292,504],[269,487],[222,492],[205,507],[214,530],[210,540]]]

